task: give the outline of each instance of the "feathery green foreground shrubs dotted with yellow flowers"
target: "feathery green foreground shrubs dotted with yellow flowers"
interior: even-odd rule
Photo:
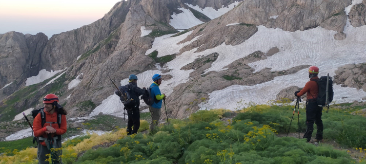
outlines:
[[[169,125],[160,125],[153,134],[81,136],[64,143],[64,161],[76,164],[365,164],[365,156],[351,158],[346,150],[337,150],[328,144],[316,146],[306,143],[305,139],[278,137],[284,136],[289,127],[294,108],[290,102],[273,101],[272,106],[249,103],[236,111],[199,110],[187,119],[169,119]],[[331,108],[323,113],[325,141],[365,148],[366,118],[351,115],[353,110],[356,109]],[[234,113],[234,118],[224,118]],[[294,118],[294,121],[291,133],[297,133],[297,120]],[[300,123],[300,130],[304,132],[305,109],[300,109]],[[142,121],[141,127],[146,129],[148,123]],[[109,137],[112,135],[119,139],[113,146],[103,146],[102,140],[112,141]],[[95,143],[101,143],[99,148]],[[80,152],[84,153],[78,156]],[[360,154],[363,153],[361,149]]]

